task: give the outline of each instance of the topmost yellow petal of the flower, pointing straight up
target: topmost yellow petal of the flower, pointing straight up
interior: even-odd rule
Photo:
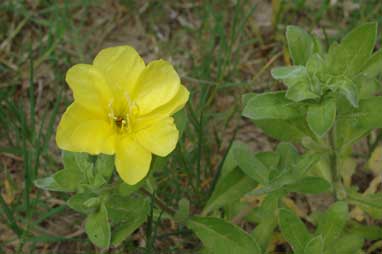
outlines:
[[[93,61],[115,92],[130,93],[145,68],[143,59],[130,46],[117,46],[101,50]]]

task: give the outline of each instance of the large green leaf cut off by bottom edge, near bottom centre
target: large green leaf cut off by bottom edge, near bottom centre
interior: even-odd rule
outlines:
[[[223,219],[193,217],[188,227],[195,232],[206,248],[214,254],[260,254],[254,238],[238,226]]]

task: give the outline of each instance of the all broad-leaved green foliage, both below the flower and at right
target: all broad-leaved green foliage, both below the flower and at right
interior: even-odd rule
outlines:
[[[201,253],[270,253],[278,232],[296,254],[362,253],[365,239],[381,238],[380,229],[354,222],[350,207],[379,219],[381,194],[349,185],[346,162],[354,143],[382,127],[382,97],[376,96],[382,51],[373,52],[377,25],[355,28],[328,51],[295,26],[287,28],[286,38],[294,65],[271,74],[287,89],[245,94],[242,111],[280,143],[274,151],[253,153],[233,142],[202,211],[190,209],[187,199],[177,210],[158,199],[152,173],[137,185],[123,183],[113,177],[114,158],[106,155],[64,152],[64,169],[35,185],[74,193],[68,206],[86,216],[89,239],[105,249],[145,222],[153,227],[154,219],[168,218],[195,233],[204,246]],[[183,120],[177,126],[184,126],[185,118],[178,118]],[[161,163],[156,158],[152,171]],[[335,202],[302,217],[307,223],[287,202],[290,193],[330,192]],[[242,222],[256,226],[244,231]]]

